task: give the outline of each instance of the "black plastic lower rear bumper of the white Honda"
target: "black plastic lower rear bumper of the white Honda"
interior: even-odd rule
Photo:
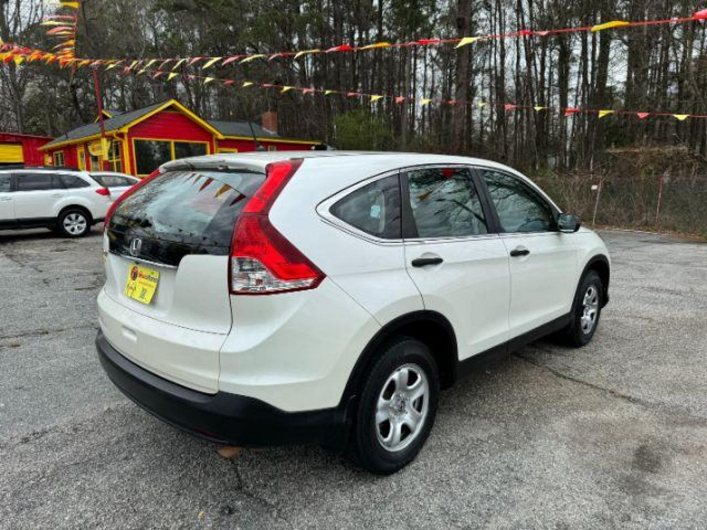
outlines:
[[[346,444],[353,400],[337,408],[285,412],[252,397],[204,394],[167,381],[124,358],[101,331],[95,344],[103,370],[123,394],[193,435],[251,447],[319,442],[336,450]]]

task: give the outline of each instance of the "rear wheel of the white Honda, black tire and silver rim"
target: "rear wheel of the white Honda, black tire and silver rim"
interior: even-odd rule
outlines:
[[[417,372],[423,377],[416,380]],[[404,389],[397,390],[397,379],[394,375],[408,379]],[[416,384],[420,387],[416,387]],[[425,386],[426,383],[426,386]],[[408,387],[409,385],[409,387]],[[391,389],[394,389],[391,393]],[[403,392],[427,390],[420,397],[410,401]],[[379,399],[390,395],[390,406],[386,412],[390,420],[384,420],[380,425],[376,421],[376,411]],[[439,372],[431,351],[414,338],[399,337],[381,348],[380,358],[370,370],[368,379],[363,383],[361,399],[354,416],[353,435],[349,454],[356,464],[378,475],[390,475],[407,466],[419,453],[435,422],[439,397]],[[426,400],[426,402],[425,402]],[[418,427],[411,429],[404,423],[414,420],[413,411],[421,418]],[[384,413],[384,414],[385,414]],[[379,416],[380,417],[380,416]],[[387,432],[385,422],[387,421]],[[393,426],[402,425],[399,429]],[[406,432],[407,431],[407,432]],[[400,443],[397,449],[384,447],[384,435],[395,440],[394,432],[400,432]],[[379,438],[380,435],[380,438]]]

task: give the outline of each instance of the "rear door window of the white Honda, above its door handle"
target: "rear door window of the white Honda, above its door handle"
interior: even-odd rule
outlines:
[[[479,194],[464,167],[407,172],[418,237],[462,237],[489,232]]]

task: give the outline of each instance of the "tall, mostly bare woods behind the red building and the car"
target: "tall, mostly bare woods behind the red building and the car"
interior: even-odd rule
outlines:
[[[680,0],[84,0],[77,54],[216,57],[671,18],[690,16],[700,7]],[[0,0],[0,37],[50,49],[45,29],[37,25],[50,8],[40,0]],[[337,148],[498,160],[529,172],[585,218],[592,217],[595,203],[590,184],[602,182],[601,222],[643,227],[657,220],[662,228],[705,232],[707,119],[563,115],[565,107],[707,114],[705,40],[704,23],[694,22],[489,40],[461,49],[305,55],[235,63],[209,73],[491,103],[481,108],[371,103],[112,72],[101,78],[109,109],[128,111],[177,98],[205,117],[221,119],[258,120],[262,112],[276,110],[280,132],[287,136]],[[549,110],[504,112],[494,106],[504,103]],[[0,130],[54,136],[92,122],[95,115],[88,69],[0,68]],[[666,199],[656,218],[659,189]]]

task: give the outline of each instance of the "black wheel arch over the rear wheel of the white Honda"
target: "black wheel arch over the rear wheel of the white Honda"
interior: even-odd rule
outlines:
[[[409,336],[424,343],[435,358],[440,372],[440,387],[449,388],[457,379],[457,338],[452,324],[442,314],[421,310],[404,314],[382,326],[368,341],[351,370],[342,403],[358,395],[366,374],[378,358],[380,347],[391,338]]]

